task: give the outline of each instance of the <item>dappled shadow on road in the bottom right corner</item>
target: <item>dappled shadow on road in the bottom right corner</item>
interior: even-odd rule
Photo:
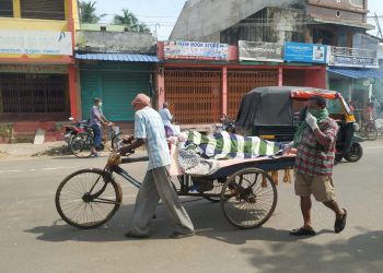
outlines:
[[[325,245],[305,241],[243,248],[259,272],[382,272],[383,232],[372,230]]]

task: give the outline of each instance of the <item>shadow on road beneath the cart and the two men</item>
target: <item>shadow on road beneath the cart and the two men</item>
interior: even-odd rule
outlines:
[[[200,199],[182,199],[186,211],[193,219],[196,235],[231,245],[245,245],[247,241],[290,242],[304,240],[307,237],[293,237],[289,230],[259,227],[255,229],[239,229],[224,218],[219,203]],[[37,234],[37,239],[45,241],[118,241],[126,240],[124,233],[130,227],[134,204],[121,205],[114,217],[97,228],[80,229],[72,227],[62,219],[56,219],[51,226],[37,226],[25,230]],[[165,239],[174,228],[173,221],[162,205],[158,206],[156,218],[151,222],[151,239]],[[318,230],[321,234],[333,230]]]

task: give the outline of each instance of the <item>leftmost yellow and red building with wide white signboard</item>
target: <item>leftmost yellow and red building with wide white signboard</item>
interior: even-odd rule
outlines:
[[[0,2],[0,120],[11,138],[77,116],[77,14],[72,0]]]

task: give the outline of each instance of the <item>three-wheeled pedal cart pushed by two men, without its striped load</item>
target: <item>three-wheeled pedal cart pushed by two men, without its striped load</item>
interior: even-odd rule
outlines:
[[[120,164],[147,159],[144,156],[120,158],[119,154],[112,153],[104,169],[88,168],[69,175],[56,192],[58,213],[69,225],[79,228],[106,223],[123,201],[123,191],[114,175],[140,186]],[[188,176],[177,167],[171,168],[170,174],[178,181],[178,186],[173,183],[178,195],[221,202],[229,223],[239,228],[255,228],[268,221],[277,205],[276,171],[292,168],[293,164],[293,156],[227,159],[209,176]],[[269,171],[274,171],[272,177]]]

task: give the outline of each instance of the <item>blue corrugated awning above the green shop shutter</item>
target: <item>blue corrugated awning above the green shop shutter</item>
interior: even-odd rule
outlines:
[[[76,54],[78,60],[159,62],[156,56],[141,54]]]

